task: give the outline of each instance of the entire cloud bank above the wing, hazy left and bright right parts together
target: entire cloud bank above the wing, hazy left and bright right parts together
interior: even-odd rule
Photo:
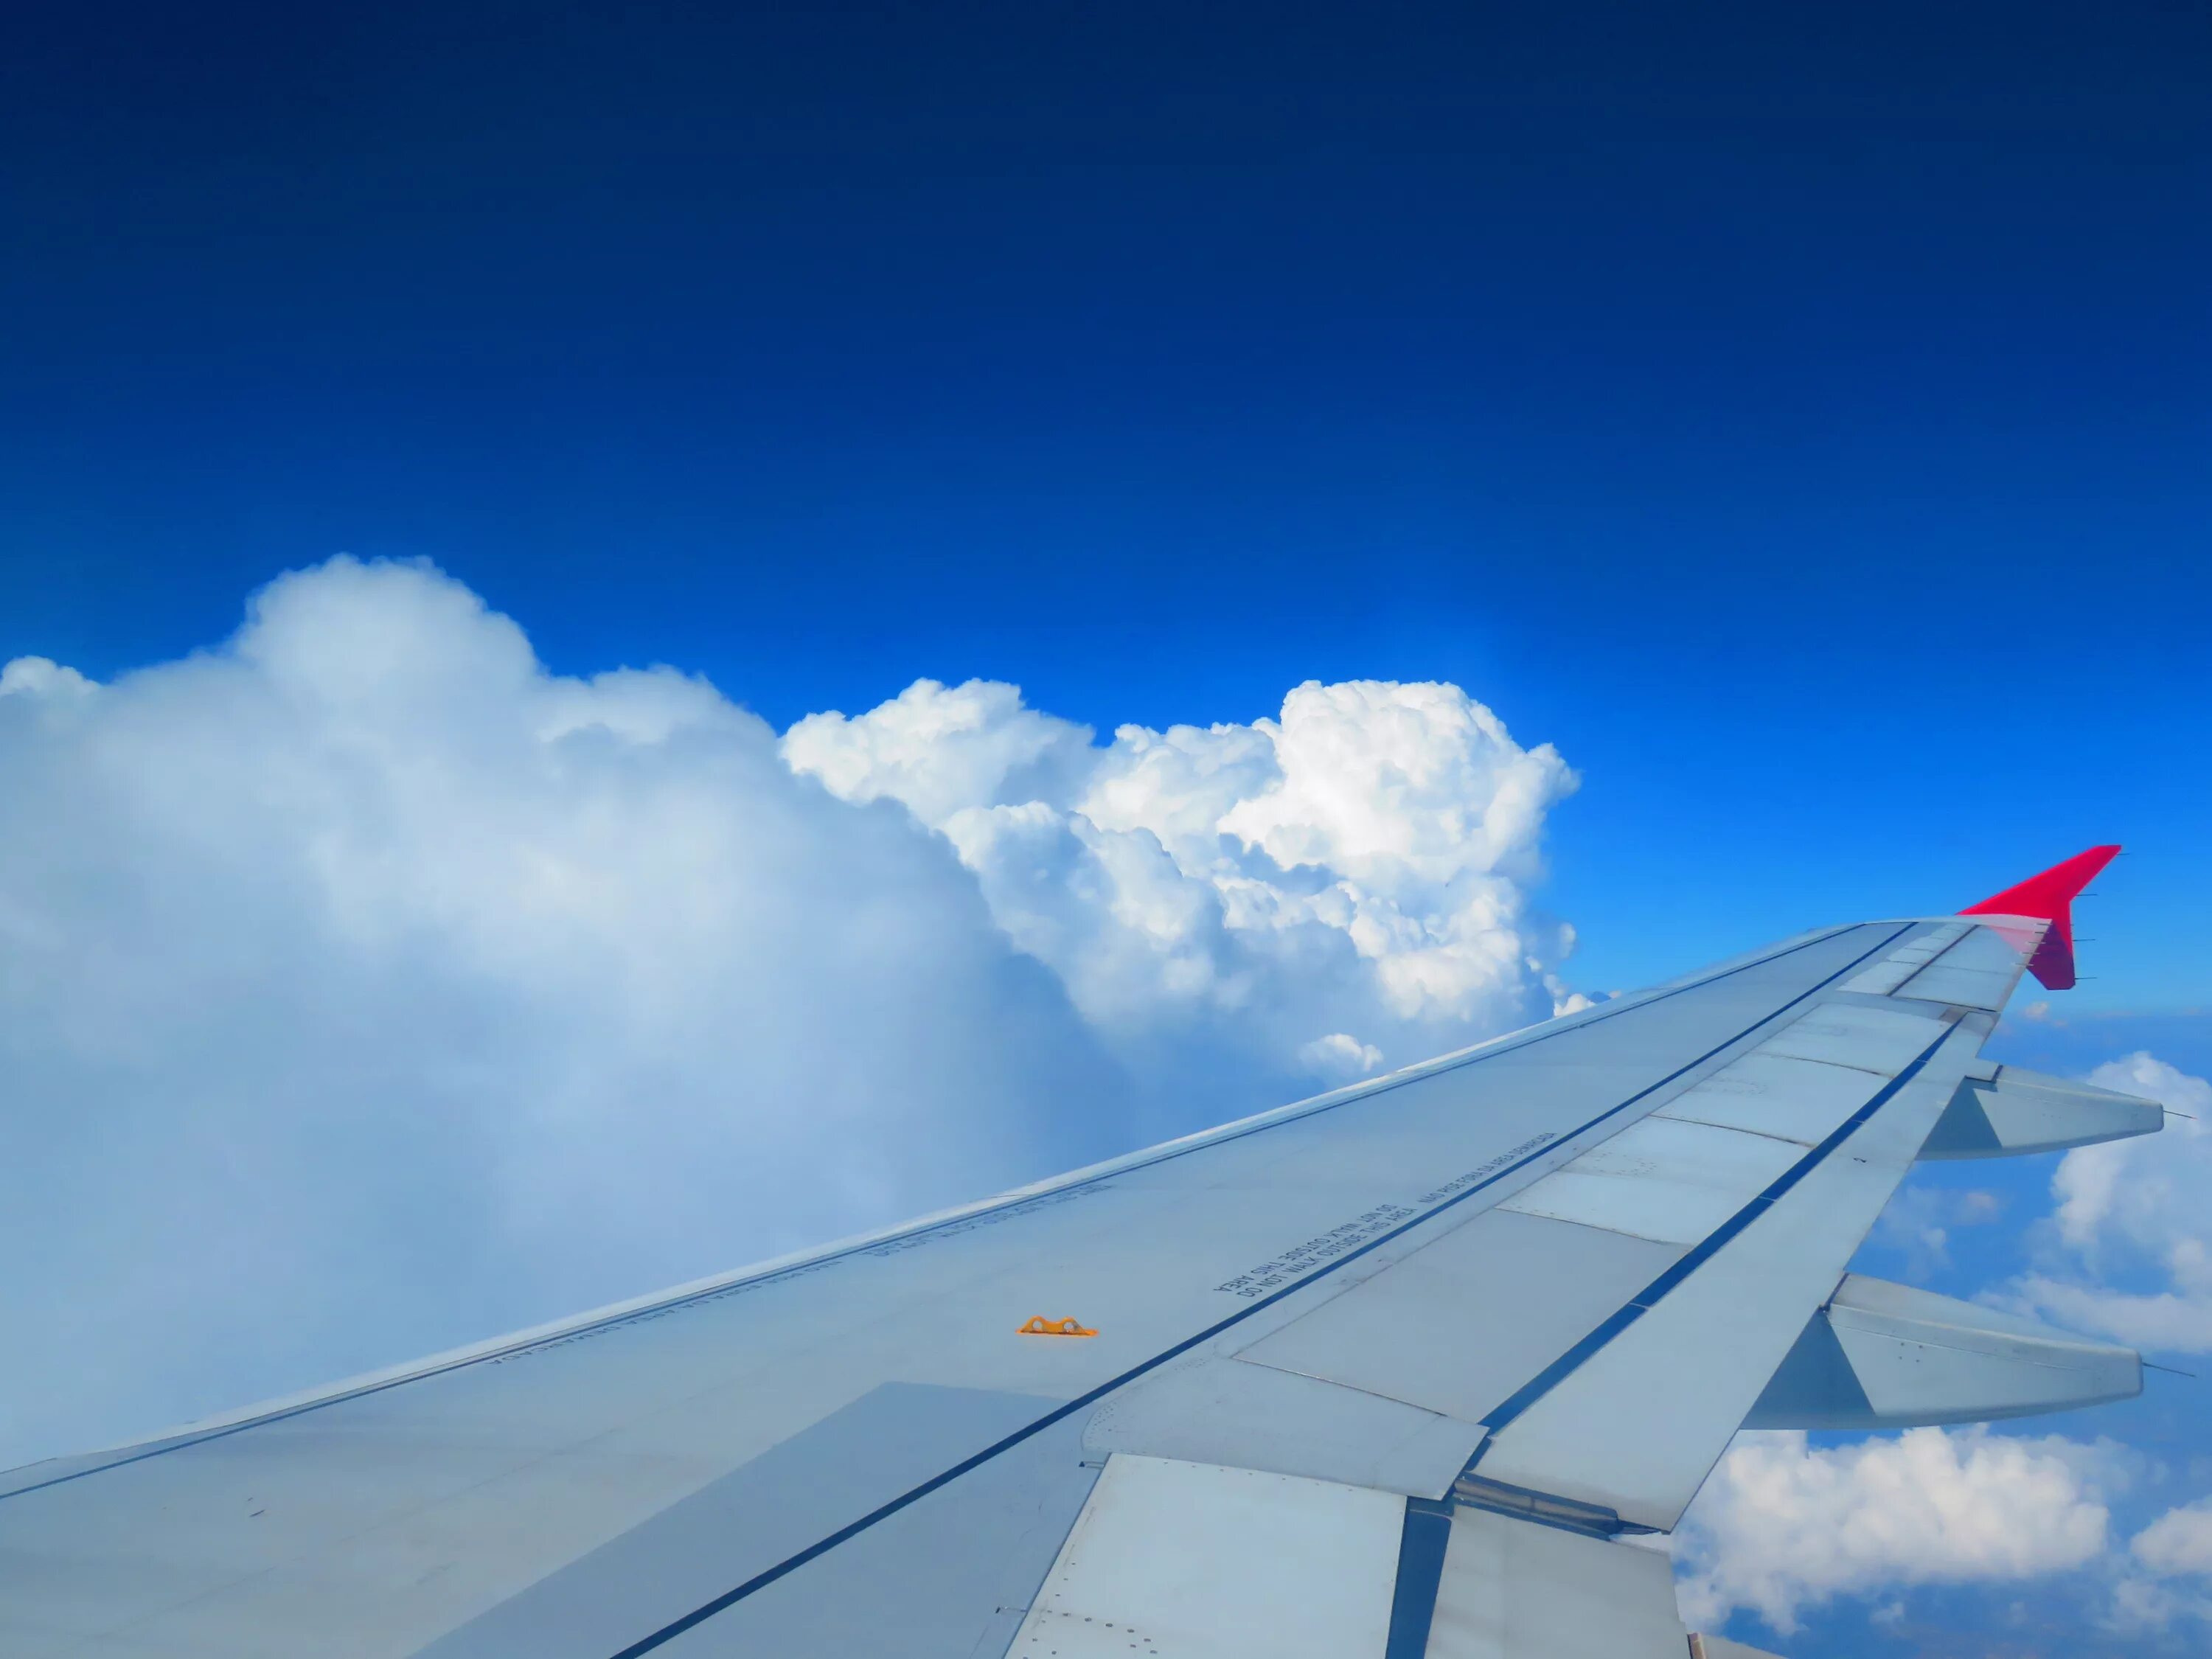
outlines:
[[[0,1464],[1197,1128],[1548,1000],[1573,785],[1449,686],[779,737],[429,566],[0,670]]]

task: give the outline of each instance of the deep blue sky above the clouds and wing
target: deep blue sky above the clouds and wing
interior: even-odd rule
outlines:
[[[0,657],[431,555],[564,670],[1586,774],[1577,980],[2090,841],[2212,998],[2212,20],[2172,7],[46,7]]]

